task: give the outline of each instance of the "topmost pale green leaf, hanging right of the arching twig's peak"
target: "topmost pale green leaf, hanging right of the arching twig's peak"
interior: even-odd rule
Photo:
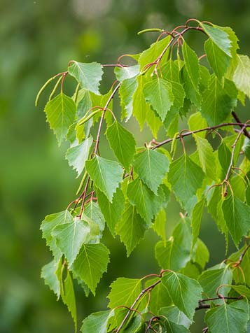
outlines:
[[[229,57],[232,57],[231,55],[231,44],[229,35],[226,31],[223,30],[223,28],[200,23],[206,34],[211,38],[211,41],[213,41],[218,48],[220,48],[223,52],[225,52],[226,55]]]

